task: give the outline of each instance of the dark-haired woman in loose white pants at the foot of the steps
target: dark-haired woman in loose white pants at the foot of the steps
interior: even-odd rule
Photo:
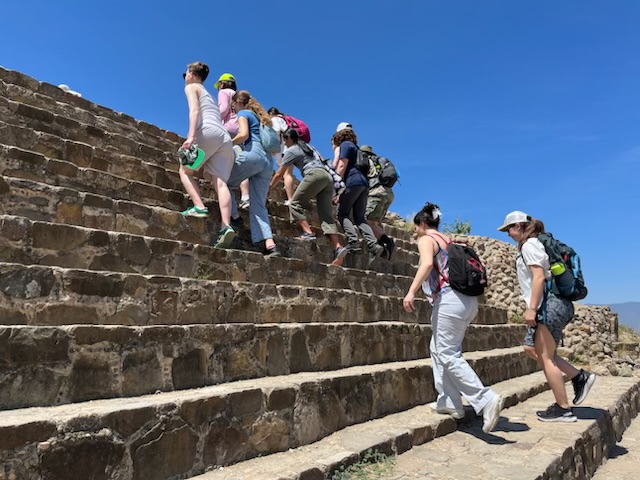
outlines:
[[[482,430],[493,430],[500,418],[502,397],[485,387],[462,356],[462,341],[469,324],[478,313],[478,300],[455,291],[449,278],[448,249],[451,239],[438,232],[440,209],[427,203],[413,223],[416,225],[420,266],[404,297],[403,307],[414,311],[414,298],[422,286],[433,306],[431,316],[431,359],[438,399],[431,408],[437,413],[464,417],[462,395],[476,414],[482,414]]]

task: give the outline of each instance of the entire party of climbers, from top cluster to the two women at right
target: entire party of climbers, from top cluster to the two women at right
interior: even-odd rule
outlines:
[[[242,224],[235,196],[229,190],[240,188],[240,207],[249,208],[252,241],[264,242],[265,255],[280,255],[266,203],[269,189],[283,179],[291,219],[302,230],[298,240],[316,239],[306,218],[306,210],[315,200],[322,232],[334,251],[334,265],[341,265],[347,255],[360,250],[358,231],[367,245],[369,264],[379,256],[391,259],[395,242],[380,224],[393,201],[392,187],[397,180],[390,162],[375,155],[371,147],[358,146],[358,137],[347,122],[338,125],[331,139],[333,161],[324,159],[310,145],[309,130],[303,122],[275,107],[267,112],[249,92],[236,91],[233,75],[225,73],[216,82],[219,90],[216,104],[203,86],[208,73],[207,65],[195,62],[183,74],[189,103],[189,133],[181,150],[188,151],[197,144],[204,152],[198,169],[214,186],[222,223],[214,246],[228,248],[235,237],[234,227]],[[266,138],[271,136],[276,139],[275,146]],[[275,174],[272,156],[278,165]],[[302,176],[297,188],[294,188],[294,167]],[[182,213],[207,216],[194,179],[195,171],[184,164],[180,167],[180,179],[193,201],[193,206]],[[388,171],[393,173],[385,174]],[[337,221],[346,237],[344,245],[333,215],[334,204]],[[438,398],[431,408],[462,418],[464,396],[474,411],[482,415],[483,430],[490,432],[498,422],[504,400],[483,385],[462,356],[462,341],[477,314],[478,301],[477,297],[452,288],[449,282],[452,240],[438,231],[440,218],[439,207],[432,203],[427,203],[414,218],[420,266],[403,306],[408,312],[414,310],[415,294],[421,287],[433,306],[430,353]],[[551,273],[549,256],[538,240],[544,225],[523,212],[512,212],[499,230],[518,242],[517,276],[527,304],[524,319],[529,327],[525,351],[539,362],[556,399],[548,409],[537,412],[537,417],[547,422],[573,422],[576,417],[568,404],[563,373],[572,380],[575,405],[584,401],[596,377],[576,369],[557,354],[562,331],[573,316],[573,305],[545,290],[545,279]]]

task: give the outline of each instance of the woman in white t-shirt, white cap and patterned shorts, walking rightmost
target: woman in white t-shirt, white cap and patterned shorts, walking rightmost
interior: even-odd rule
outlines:
[[[573,303],[557,297],[548,288],[551,279],[549,255],[538,240],[544,232],[544,223],[524,212],[509,213],[501,232],[518,243],[520,253],[516,258],[516,275],[522,298],[527,304],[524,321],[529,326],[524,338],[524,349],[542,367],[555,403],[546,410],[536,412],[543,422],[575,422],[577,417],[569,407],[563,373],[571,379],[575,392],[574,405],[584,401],[595,382],[596,375],[578,370],[557,352],[562,342],[564,327],[573,317]]]

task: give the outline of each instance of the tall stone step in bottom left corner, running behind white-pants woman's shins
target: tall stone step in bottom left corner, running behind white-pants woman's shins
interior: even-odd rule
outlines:
[[[466,357],[486,384],[537,368],[519,347]],[[431,379],[423,359],[7,410],[0,463],[9,478],[184,478],[425,404]]]

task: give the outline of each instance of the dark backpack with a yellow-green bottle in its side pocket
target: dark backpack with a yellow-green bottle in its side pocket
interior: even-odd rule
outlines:
[[[585,298],[589,292],[584,284],[580,257],[576,251],[560,240],[553,238],[553,235],[548,232],[538,235],[538,240],[540,240],[547,255],[549,255],[552,273],[550,285],[548,286],[550,291],[554,295],[572,302]],[[560,268],[557,269],[557,267]],[[556,274],[557,270],[561,270],[559,275]]]

